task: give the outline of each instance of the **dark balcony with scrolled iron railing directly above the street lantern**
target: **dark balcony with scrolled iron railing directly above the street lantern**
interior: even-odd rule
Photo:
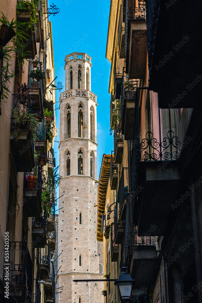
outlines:
[[[149,286],[157,266],[155,237],[137,235],[137,228],[129,232],[126,254],[129,260],[131,277],[136,280],[135,287]]]

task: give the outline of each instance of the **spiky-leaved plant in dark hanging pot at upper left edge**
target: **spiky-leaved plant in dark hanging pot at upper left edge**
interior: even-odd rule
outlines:
[[[3,16],[0,17],[0,22],[2,23],[0,28],[0,44],[5,46],[15,36],[13,28],[16,26],[16,21],[12,19],[12,21],[9,22],[3,13],[2,15]]]

